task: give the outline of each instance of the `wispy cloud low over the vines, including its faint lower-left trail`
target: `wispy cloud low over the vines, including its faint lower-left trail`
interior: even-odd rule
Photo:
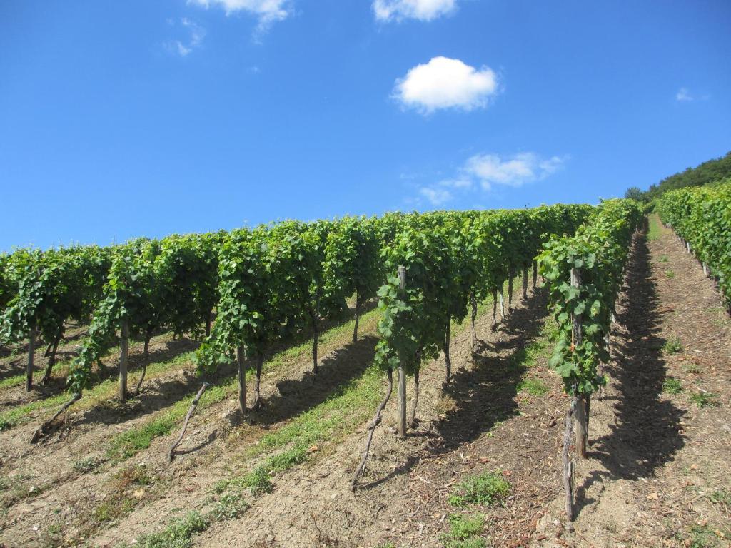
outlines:
[[[511,156],[475,154],[469,157],[455,176],[436,183],[417,186],[417,198],[408,202],[418,205],[426,199],[439,207],[458,198],[471,201],[484,197],[495,185],[518,188],[548,178],[561,170],[569,156],[542,157],[533,152],[521,152]]]

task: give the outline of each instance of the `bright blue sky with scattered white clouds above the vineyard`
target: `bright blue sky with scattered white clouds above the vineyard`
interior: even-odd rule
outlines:
[[[731,150],[731,2],[0,0],[0,250],[596,202]]]

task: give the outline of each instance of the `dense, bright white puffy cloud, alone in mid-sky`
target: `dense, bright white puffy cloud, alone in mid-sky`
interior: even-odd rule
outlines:
[[[490,67],[477,70],[459,59],[434,57],[396,80],[393,96],[405,107],[428,114],[441,108],[486,107],[498,91],[498,78]]]

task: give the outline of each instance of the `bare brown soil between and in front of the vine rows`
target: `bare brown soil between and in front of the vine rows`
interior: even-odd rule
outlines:
[[[548,368],[553,322],[539,289],[526,302],[516,299],[496,327],[491,310],[482,313],[474,354],[469,328],[453,330],[452,384],[442,388],[443,357],[425,365],[419,420],[404,441],[395,435],[391,398],[355,492],[350,479],[376,402],[361,410],[352,432],[333,434],[311,447],[306,462],[268,474],[271,492],[247,490],[248,508],[211,520],[186,542],[262,548],[731,546],[731,321],[697,261],[672,232],[654,228],[652,238],[638,235],[632,248],[611,338],[613,359],[604,368],[607,387],[591,403],[588,458],[576,460],[573,530],[563,514],[561,476],[569,400]],[[34,423],[1,432],[0,546],[134,545],[141,534],[164,530],[189,511],[210,512],[221,502],[221,480],[287,449],[251,453],[266,436],[299,424],[343,387],[362,382],[374,355],[375,321],[361,324],[357,343],[349,330],[329,338],[318,376],[309,373],[308,349],[288,354],[276,368],[265,365],[265,406],[251,422],[240,419],[235,396],[201,408],[171,464],[166,449],[177,427],[126,459],[109,457],[107,449],[114,435],[148,424],[192,395],[200,386],[192,364],[155,378],[148,400],[71,414],[39,446],[27,443]],[[376,389],[384,391],[385,379]],[[411,382],[408,394],[410,406]],[[91,464],[80,465],[86,462]],[[491,506],[452,506],[458,482],[483,472],[507,479],[507,497]],[[448,544],[454,514],[484,520],[473,544]]]

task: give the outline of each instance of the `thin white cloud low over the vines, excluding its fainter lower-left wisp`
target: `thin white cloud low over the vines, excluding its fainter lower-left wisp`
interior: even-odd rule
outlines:
[[[477,178],[484,189],[490,189],[493,184],[518,187],[545,179],[559,170],[566,160],[566,156],[542,159],[532,152],[521,152],[502,159],[496,154],[477,154],[466,161],[463,170]]]

